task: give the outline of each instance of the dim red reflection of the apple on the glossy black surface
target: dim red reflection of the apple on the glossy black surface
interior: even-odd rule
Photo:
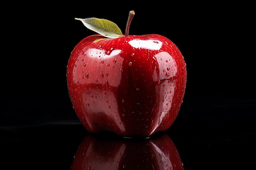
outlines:
[[[87,135],[71,170],[184,170],[173,141],[166,134],[147,139]]]

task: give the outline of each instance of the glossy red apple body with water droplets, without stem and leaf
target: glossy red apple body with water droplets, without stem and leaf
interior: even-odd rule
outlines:
[[[175,121],[186,88],[186,64],[168,38],[91,35],[67,64],[67,87],[76,115],[89,132],[150,137]]]

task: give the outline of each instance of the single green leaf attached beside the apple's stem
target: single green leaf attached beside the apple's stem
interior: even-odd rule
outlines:
[[[105,19],[99,18],[75,18],[76,20],[82,21],[82,23],[90,30],[95,31],[107,38],[118,38],[124,37],[122,31],[119,29],[117,24]]]

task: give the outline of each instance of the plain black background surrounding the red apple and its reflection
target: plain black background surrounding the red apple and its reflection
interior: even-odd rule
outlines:
[[[153,3],[2,5],[0,144],[10,169],[70,169],[86,130],[69,99],[66,66],[74,46],[94,34],[74,18],[108,19],[124,33],[130,10],[130,35],[164,35],[184,55],[186,93],[167,133],[185,170],[255,167],[253,4]]]

